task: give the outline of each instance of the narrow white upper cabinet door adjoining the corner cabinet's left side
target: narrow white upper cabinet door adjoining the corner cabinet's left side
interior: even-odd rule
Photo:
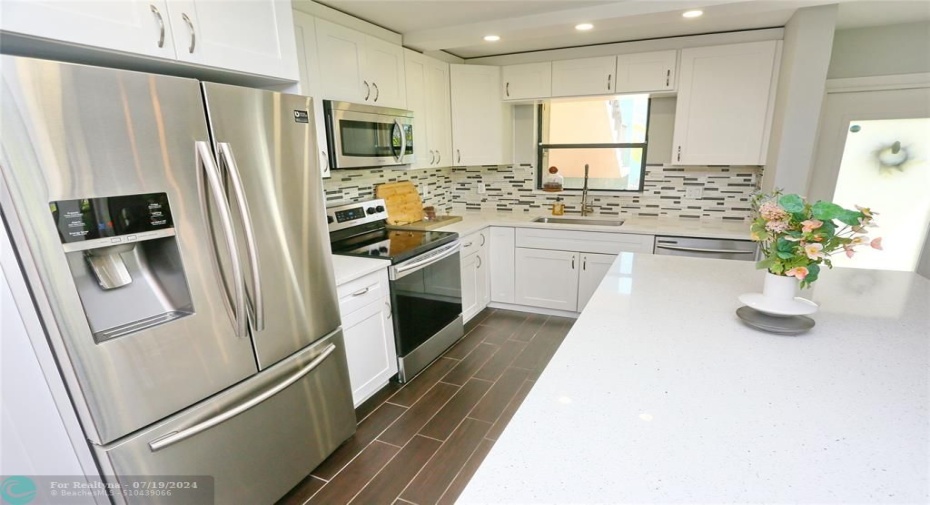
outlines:
[[[426,59],[426,138],[436,153],[435,166],[452,166],[452,97],[449,88],[449,64]]]

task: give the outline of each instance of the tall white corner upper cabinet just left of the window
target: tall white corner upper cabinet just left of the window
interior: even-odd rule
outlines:
[[[513,163],[513,111],[500,99],[500,67],[450,65],[456,166]]]

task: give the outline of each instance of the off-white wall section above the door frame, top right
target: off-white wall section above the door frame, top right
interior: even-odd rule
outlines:
[[[837,30],[829,79],[930,72],[930,22]]]

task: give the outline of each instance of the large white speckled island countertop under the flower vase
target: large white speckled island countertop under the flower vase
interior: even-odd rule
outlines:
[[[824,271],[778,336],[762,278],[621,254],[459,503],[930,502],[930,280]]]

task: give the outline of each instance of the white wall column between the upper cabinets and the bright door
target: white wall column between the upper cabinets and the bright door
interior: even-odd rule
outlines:
[[[836,26],[836,5],[799,9],[785,25],[762,188],[807,193]]]

